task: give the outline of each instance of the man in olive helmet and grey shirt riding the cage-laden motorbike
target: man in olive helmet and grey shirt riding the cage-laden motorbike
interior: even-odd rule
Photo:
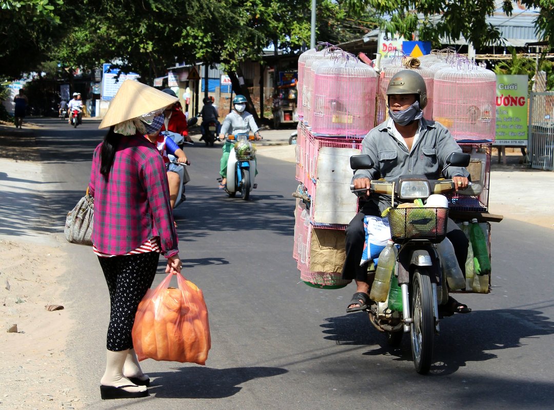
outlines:
[[[352,178],[355,189],[367,188],[368,198],[360,203],[360,212],[346,228],[346,260],[342,278],[355,280],[357,287],[347,312],[362,311],[372,303],[369,293],[375,272],[368,273],[367,265],[360,266],[365,243],[363,219],[366,215],[381,216],[381,212],[391,206],[389,196],[370,196],[371,180],[384,178],[393,181],[409,174],[438,179],[447,157],[453,152],[461,152],[444,125],[423,118],[427,87],[416,71],[402,70],[394,75],[389,82],[387,96],[390,118],[373,128],[362,141],[362,154],[369,155],[375,167],[357,170]],[[445,174],[445,177],[454,180],[456,190],[468,186],[469,172],[465,168],[450,166]],[[452,219],[448,220],[447,238],[454,245],[458,265],[465,276],[469,241]],[[471,311],[452,297],[444,308],[447,314]]]

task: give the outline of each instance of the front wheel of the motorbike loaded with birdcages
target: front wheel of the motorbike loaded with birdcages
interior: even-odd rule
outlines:
[[[429,276],[416,270],[413,275],[412,303],[410,312],[413,318],[411,326],[412,358],[419,374],[427,374],[433,361],[433,291]]]

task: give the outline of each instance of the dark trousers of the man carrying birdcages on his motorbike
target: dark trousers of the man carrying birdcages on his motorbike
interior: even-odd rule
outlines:
[[[342,267],[342,278],[366,282],[367,265],[360,266],[363,244],[366,241],[366,232],[365,229],[363,229],[363,218],[366,215],[381,216],[381,212],[372,201],[365,202],[363,206],[360,203],[360,206],[360,212],[356,214],[346,228],[346,259]],[[454,245],[456,260],[458,260],[458,265],[465,276],[465,260],[468,258],[469,240],[458,225],[450,218],[448,218],[447,238],[452,242],[452,245]]]

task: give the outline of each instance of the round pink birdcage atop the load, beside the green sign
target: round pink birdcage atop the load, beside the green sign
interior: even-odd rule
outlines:
[[[496,75],[467,60],[435,72],[433,118],[457,141],[495,140]]]

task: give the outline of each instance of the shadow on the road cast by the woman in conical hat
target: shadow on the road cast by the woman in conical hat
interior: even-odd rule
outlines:
[[[238,385],[260,377],[279,376],[288,372],[278,367],[177,367],[178,372],[149,372],[156,377],[148,390],[163,398],[223,398],[233,396]]]

